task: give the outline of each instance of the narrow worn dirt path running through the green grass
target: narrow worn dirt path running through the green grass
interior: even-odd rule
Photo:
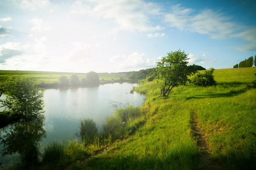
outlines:
[[[190,125],[192,128],[192,136],[197,140],[197,145],[201,151],[199,157],[199,170],[224,170],[224,167],[218,159],[211,158],[211,150],[209,149],[209,144],[207,142],[207,137],[204,135],[204,132],[201,130],[201,127],[198,126],[198,118],[195,114],[195,111],[190,112]]]

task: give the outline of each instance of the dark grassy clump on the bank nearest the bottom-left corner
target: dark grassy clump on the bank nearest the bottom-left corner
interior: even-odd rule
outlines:
[[[56,163],[64,159],[64,146],[58,142],[47,144],[42,152],[42,162]]]

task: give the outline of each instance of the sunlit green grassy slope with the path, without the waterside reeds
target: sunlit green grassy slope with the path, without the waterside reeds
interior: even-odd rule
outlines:
[[[145,125],[73,169],[255,169],[256,68],[214,71],[216,87],[180,86],[160,97],[157,82],[143,82]],[[134,119],[136,122],[137,119]]]

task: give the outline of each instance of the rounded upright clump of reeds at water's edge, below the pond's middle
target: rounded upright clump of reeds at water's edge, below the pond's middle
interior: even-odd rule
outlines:
[[[83,142],[91,142],[98,134],[98,127],[93,119],[80,120],[80,137]]]

